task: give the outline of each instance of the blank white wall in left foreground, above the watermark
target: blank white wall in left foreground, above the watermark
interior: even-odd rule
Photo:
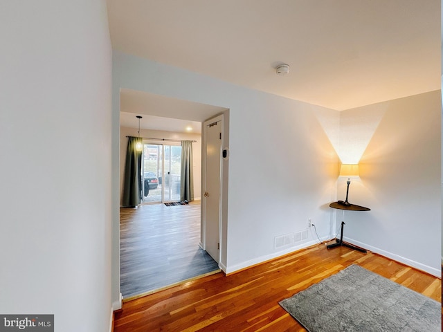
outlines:
[[[0,313],[109,331],[111,44],[105,0],[0,9]]]

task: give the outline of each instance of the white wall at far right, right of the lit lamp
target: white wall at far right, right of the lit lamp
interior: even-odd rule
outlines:
[[[441,104],[440,91],[434,91],[342,114],[359,127],[363,119],[370,120],[361,113],[379,110],[374,112],[379,125],[361,158],[360,179],[350,185],[350,203],[371,211],[345,213],[345,238],[437,276],[441,275]],[[338,180],[339,199],[345,198],[345,181]],[[341,217],[338,213],[338,222]]]

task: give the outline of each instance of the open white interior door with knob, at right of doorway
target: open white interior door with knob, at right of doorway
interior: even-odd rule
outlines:
[[[205,250],[217,263],[220,261],[220,197],[221,197],[221,116],[204,122],[204,239]]]

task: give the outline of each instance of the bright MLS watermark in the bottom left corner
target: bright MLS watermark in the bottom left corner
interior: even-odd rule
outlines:
[[[0,332],[54,332],[54,315],[0,315]]]

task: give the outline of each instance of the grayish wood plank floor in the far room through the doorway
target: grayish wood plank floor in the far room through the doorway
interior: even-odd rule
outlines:
[[[124,299],[219,270],[199,248],[200,204],[120,209],[120,287]]]

